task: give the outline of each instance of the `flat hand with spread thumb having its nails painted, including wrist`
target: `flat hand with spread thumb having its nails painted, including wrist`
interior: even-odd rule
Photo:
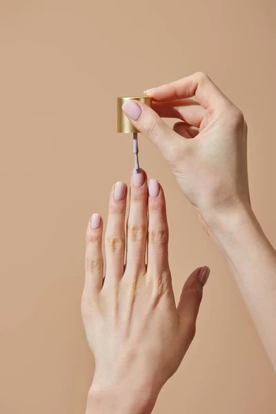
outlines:
[[[113,186],[105,275],[99,215],[92,215],[86,233],[81,311],[95,355],[87,404],[87,413],[93,414],[152,411],[161,387],[177,371],[193,340],[210,271],[198,268],[188,277],[176,306],[163,190],[155,179],[148,187],[144,172],[133,173],[125,239],[126,195],[126,184]]]

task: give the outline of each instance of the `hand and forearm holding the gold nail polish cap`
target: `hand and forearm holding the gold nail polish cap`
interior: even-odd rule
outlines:
[[[153,109],[124,103],[161,150],[237,280],[276,371],[276,252],[250,206],[242,112],[203,73],[145,92]],[[197,99],[190,99],[195,96]],[[161,117],[181,122],[171,130]]]

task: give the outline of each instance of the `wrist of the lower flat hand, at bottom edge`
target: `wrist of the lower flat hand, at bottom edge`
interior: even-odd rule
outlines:
[[[86,414],[150,414],[157,395],[148,387],[93,382],[88,393]]]

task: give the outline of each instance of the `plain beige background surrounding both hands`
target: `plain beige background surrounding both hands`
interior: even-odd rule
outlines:
[[[255,213],[276,245],[275,0],[1,0],[0,412],[81,414],[92,378],[84,231],[130,181],[116,97],[204,70],[244,110]],[[159,152],[177,297],[212,268],[197,337],[155,413],[275,414],[275,377],[237,286]],[[116,157],[115,157],[116,155]]]

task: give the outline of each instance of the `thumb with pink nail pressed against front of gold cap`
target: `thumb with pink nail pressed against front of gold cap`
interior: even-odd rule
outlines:
[[[173,161],[175,155],[179,154],[184,140],[157,115],[157,112],[145,103],[132,99],[126,101],[122,109],[137,130],[157,146],[164,158]]]

